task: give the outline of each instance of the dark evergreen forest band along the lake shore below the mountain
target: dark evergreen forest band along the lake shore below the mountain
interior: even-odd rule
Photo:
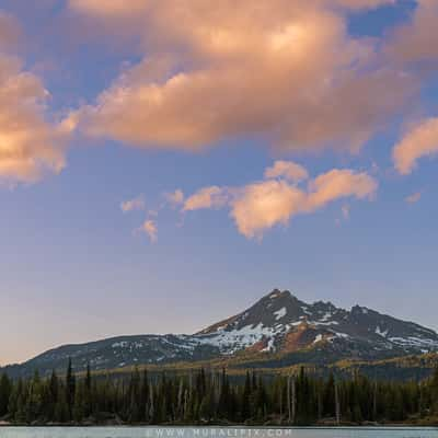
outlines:
[[[0,419],[16,424],[295,424],[319,422],[417,422],[438,415],[438,369],[424,382],[381,382],[364,376],[335,380],[297,374],[264,380],[247,372],[199,371],[153,378],[135,370],[129,378],[93,377],[88,368],[42,379],[0,378]]]

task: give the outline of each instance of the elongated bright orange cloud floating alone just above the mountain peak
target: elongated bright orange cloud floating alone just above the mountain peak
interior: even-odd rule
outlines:
[[[348,169],[321,174],[304,188],[285,175],[275,173],[276,178],[270,178],[269,174],[265,172],[265,180],[241,187],[201,188],[187,198],[183,210],[228,207],[241,234],[261,239],[267,230],[288,224],[297,215],[312,214],[337,199],[372,199],[378,189],[373,177]]]

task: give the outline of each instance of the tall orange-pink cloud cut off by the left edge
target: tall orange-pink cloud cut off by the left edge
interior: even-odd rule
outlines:
[[[16,23],[0,13],[0,183],[33,183],[65,164],[62,134],[46,120],[48,92],[9,54]]]

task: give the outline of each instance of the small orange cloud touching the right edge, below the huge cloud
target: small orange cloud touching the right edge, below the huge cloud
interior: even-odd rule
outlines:
[[[438,153],[438,118],[417,124],[394,147],[392,158],[395,169],[402,175],[414,171],[417,161]]]

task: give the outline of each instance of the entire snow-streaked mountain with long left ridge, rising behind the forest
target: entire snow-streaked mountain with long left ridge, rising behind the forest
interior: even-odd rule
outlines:
[[[221,359],[245,366],[281,368],[328,365],[343,359],[382,360],[438,351],[438,334],[368,308],[350,310],[331,302],[306,303],[289,291],[274,290],[245,311],[193,335],[137,335],[61,346],[20,365],[11,376],[141,365],[196,364]]]

